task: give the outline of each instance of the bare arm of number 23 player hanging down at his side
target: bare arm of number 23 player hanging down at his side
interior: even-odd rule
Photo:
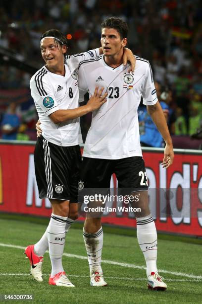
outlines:
[[[154,124],[156,125],[158,131],[162,135],[165,141],[164,158],[162,162],[163,168],[168,168],[174,160],[174,151],[172,145],[172,139],[168,130],[167,122],[161,108],[160,103],[157,101],[153,105],[147,105],[147,110]]]

